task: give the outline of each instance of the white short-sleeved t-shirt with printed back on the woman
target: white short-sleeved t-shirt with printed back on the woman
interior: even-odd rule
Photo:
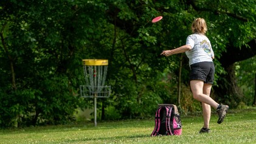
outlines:
[[[185,52],[190,65],[202,61],[212,61],[212,57],[214,57],[212,45],[205,35],[197,33],[189,35],[186,44],[192,47],[191,50]]]

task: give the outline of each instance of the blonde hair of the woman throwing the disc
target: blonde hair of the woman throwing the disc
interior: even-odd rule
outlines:
[[[192,22],[191,29],[193,33],[202,33],[205,35],[207,31],[206,21],[203,18],[196,18]]]

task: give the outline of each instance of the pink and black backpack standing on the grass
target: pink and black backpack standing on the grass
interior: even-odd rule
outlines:
[[[154,119],[154,131],[150,136],[181,135],[181,118],[176,105],[159,104]]]

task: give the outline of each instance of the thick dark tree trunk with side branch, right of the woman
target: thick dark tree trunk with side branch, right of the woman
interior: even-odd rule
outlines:
[[[243,93],[237,85],[234,63],[256,55],[256,39],[249,41],[247,46],[229,46],[226,52],[221,53],[222,57],[219,60],[227,74],[219,75],[218,86],[213,87],[213,98],[218,103],[229,105],[230,108],[237,107],[243,98]]]

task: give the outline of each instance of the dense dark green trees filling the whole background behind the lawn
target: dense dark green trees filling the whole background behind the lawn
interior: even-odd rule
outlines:
[[[75,109],[90,108],[91,100],[81,98],[78,90],[85,84],[81,60],[89,58],[109,60],[106,82],[112,94],[99,100],[102,118],[144,118],[158,103],[178,105],[178,85],[181,108],[197,111],[185,55],[159,55],[183,45],[197,17],[206,19],[216,55],[213,97],[232,108],[252,105],[247,101],[253,100],[255,86],[255,62],[248,59],[256,52],[254,1],[0,4],[1,126],[67,123],[74,120]],[[159,15],[162,21],[152,24]],[[245,80],[252,80],[251,85],[241,82]]]

